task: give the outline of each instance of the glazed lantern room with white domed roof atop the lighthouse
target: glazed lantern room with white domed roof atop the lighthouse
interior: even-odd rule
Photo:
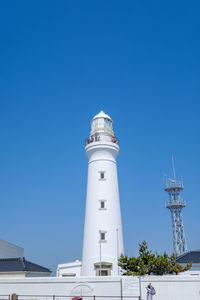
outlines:
[[[95,133],[114,135],[112,123],[111,117],[101,110],[100,113],[92,119],[90,135]]]

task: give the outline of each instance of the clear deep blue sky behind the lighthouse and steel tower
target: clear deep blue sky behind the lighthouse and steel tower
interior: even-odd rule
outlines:
[[[1,1],[1,239],[52,270],[81,258],[84,140],[103,109],[120,140],[125,252],[172,252],[172,154],[200,248],[199,15],[199,1]]]

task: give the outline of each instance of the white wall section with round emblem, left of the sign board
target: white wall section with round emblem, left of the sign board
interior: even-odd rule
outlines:
[[[121,281],[119,277],[0,279],[0,295],[12,293],[18,295],[119,296]],[[34,299],[40,298],[34,297]]]

